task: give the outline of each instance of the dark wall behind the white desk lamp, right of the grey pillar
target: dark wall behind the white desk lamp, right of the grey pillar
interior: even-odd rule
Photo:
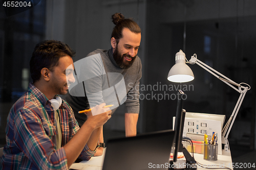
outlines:
[[[186,58],[197,54],[202,62],[231,80],[251,86],[230,132],[230,140],[254,143],[255,129],[255,25],[252,2],[229,1],[148,1],[147,60],[143,63],[145,84],[166,84],[169,69],[175,64],[175,54],[183,50]],[[229,5],[229,6],[228,6]],[[238,7],[239,5],[239,7]],[[227,7],[226,9],[224,7]],[[173,18],[173,19],[172,19]],[[207,39],[210,43],[207,43]],[[231,115],[240,93],[209,74],[198,65],[190,65],[195,80],[182,84],[189,112]],[[151,92],[151,91],[150,91]],[[177,94],[177,89],[155,93]],[[254,101],[254,102],[253,102]],[[177,100],[143,100],[147,114],[146,131],[172,127]],[[241,127],[241,124],[245,126]],[[251,136],[248,138],[248,134]],[[252,144],[253,145],[253,144]]]

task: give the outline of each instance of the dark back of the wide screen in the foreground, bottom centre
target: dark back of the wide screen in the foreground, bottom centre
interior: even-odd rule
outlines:
[[[103,170],[168,169],[175,131],[164,130],[106,143]]]

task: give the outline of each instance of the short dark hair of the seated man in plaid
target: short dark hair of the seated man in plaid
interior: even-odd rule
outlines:
[[[29,63],[33,82],[40,80],[42,68],[52,70],[58,65],[60,57],[75,55],[76,52],[68,44],[57,40],[45,40],[36,44]]]

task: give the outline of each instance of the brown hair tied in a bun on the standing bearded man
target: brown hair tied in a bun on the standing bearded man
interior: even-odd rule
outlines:
[[[119,42],[119,39],[123,37],[122,31],[124,28],[129,29],[131,32],[139,34],[141,33],[138,24],[132,20],[132,18],[124,18],[121,13],[115,13],[112,15],[112,22],[116,25],[112,31],[111,38],[114,37]]]

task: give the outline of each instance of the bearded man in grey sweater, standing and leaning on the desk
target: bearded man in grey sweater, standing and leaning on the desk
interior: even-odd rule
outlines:
[[[78,111],[89,109],[95,104],[104,101],[102,94],[105,90],[105,85],[110,85],[109,76],[115,72],[123,76],[125,82],[125,88],[122,90],[126,94],[125,105],[125,135],[135,136],[137,133],[137,121],[139,113],[139,81],[141,79],[141,60],[137,56],[138,48],[141,40],[141,30],[135,21],[130,18],[124,18],[121,13],[115,13],[112,15],[112,21],[116,25],[111,35],[111,46],[110,50],[97,49],[90,53],[86,58],[93,58],[92,64],[81,61],[80,69],[80,80],[84,81],[83,87],[86,90],[86,96],[74,95],[71,89],[70,94],[65,96],[65,100],[74,110],[74,114],[81,126],[86,121],[86,115],[79,114]],[[97,57],[99,56],[99,57]],[[91,61],[91,60],[90,60]],[[101,65],[102,63],[102,65]],[[76,68],[75,68],[76,69]],[[79,70],[76,70],[79,71]],[[84,72],[90,72],[90,74],[84,74]],[[85,76],[92,75],[85,78]],[[97,77],[97,78],[96,78]],[[92,90],[89,88],[93,88]],[[75,90],[74,90],[75,91]],[[77,92],[78,94],[84,92]],[[91,96],[93,94],[93,96]],[[118,96],[118,91],[116,90]],[[89,99],[90,98],[90,99]],[[122,99],[119,99],[121,104]],[[105,102],[105,101],[104,101]],[[107,102],[105,102],[107,103]],[[113,104],[113,103],[107,103]],[[116,107],[118,107],[117,105]],[[113,109],[112,113],[116,110]],[[103,135],[100,140],[103,142]]]

